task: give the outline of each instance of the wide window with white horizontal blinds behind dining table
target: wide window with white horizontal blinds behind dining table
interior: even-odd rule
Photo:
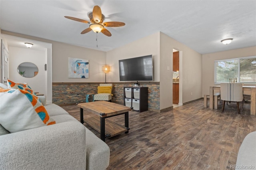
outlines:
[[[214,83],[237,82],[256,84],[256,56],[214,61]]]

